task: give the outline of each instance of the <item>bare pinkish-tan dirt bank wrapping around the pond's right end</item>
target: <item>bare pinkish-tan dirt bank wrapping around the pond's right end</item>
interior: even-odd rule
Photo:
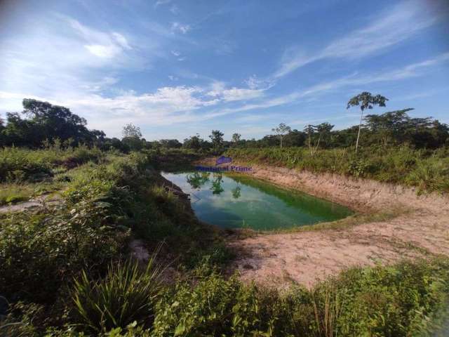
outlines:
[[[234,238],[229,245],[239,251],[239,257],[233,267],[243,280],[278,287],[290,282],[310,286],[354,265],[394,263],[427,253],[449,255],[447,196],[418,196],[407,187],[273,166],[253,165],[253,171],[241,174],[337,201],[361,213],[401,210],[388,220],[361,220],[339,230]]]

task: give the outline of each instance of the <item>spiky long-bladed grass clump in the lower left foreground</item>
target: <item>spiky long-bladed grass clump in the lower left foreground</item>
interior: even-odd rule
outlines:
[[[83,272],[72,294],[76,323],[83,331],[96,333],[126,328],[133,322],[151,326],[161,291],[159,275],[153,258],[143,271],[136,261],[112,263],[107,275],[97,281]]]

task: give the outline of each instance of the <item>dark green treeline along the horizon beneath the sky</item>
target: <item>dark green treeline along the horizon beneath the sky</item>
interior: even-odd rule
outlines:
[[[8,112],[6,122],[0,119],[0,147],[42,147],[55,140],[65,146],[88,145],[100,150],[116,149],[121,152],[142,149],[192,149],[202,152],[222,152],[229,147],[309,147],[311,152],[318,149],[354,146],[361,132],[359,145],[370,147],[382,145],[408,145],[421,149],[436,149],[449,145],[449,126],[432,117],[413,118],[408,112],[413,109],[396,110],[384,114],[368,114],[363,124],[342,130],[334,130],[334,125],[323,122],[307,125],[302,131],[286,124],[273,128],[274,134],[259,140],[241,139],[239,133],[232,135],[232,141],[224,140],[219,130],[213,130],[210,140],[196,134],[182,143],[177,139],[147,141],[142,138],[138,126],[128,124],[123,127],[123,138],[107,138],[103,131],[89,130],[86,119],[73,114],[67,107],[51,105],[39,100],[23,100],[22,117],[18,112]],[[362,110],[363,112],[363,110]],[[360,128],[360,129],[359,129]]]

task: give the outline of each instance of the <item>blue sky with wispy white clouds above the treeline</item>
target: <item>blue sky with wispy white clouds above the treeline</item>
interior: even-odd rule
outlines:
[[[449,124],[449,1],[0,0],[2,117],[34,98],[109,137],[257,139],[358,124],[362,91]]]

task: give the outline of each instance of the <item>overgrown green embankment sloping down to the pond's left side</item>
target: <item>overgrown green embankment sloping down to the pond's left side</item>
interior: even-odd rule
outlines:
[[[67,156],[72,154],[68,151]],[[37,152],[15,154],[41,158]],[[64,321],[64,310],[72,310],[65,298],[74,277],[83,270],[88,279],[107,275],[111,261],[128,255],[132,237],[144,239],[150,249],[165,242],[164,251],[177,264],[185,261],[191,267],[220,241],[196,220],[188,204],[161,187],[164,180],[146,154],[100,157],[74,169],[55,164],[53,178],[41,183],[30,183],[33,176],[27,182],[4,183],[6,197],[31,197],[35,187],[45,184],[61,190],[59,204],[0,214],[0,295],[11,303],[41,306],[47,315],[41,332]],[[218,261],[223,254],[215,256]]]

